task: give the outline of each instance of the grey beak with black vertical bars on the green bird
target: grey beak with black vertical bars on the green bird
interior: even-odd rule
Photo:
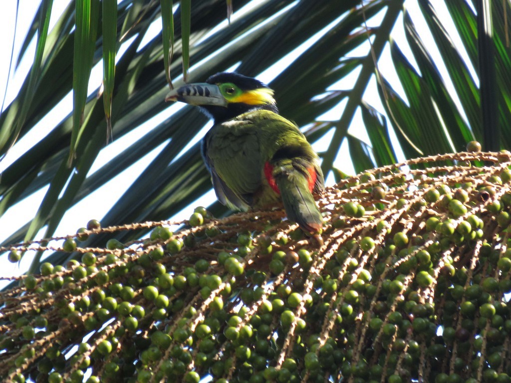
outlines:
[[[173,89],[167,94],[165,101],[180,101],[199,106],[227,106],[227,101],[220,92],[220,88],[208,83],[187,84],[180,88]]]

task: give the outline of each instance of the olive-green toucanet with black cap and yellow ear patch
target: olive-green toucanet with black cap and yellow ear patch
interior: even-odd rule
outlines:
[[[222,72],[174,88],[165,100],[198,106],[213,119],[201,154],[222,204],[248,211],[282,201],[288,220],[314,236],[323,226],[313,196],[324,188],[319,157],[279,114],[273,94],[255,78]]]

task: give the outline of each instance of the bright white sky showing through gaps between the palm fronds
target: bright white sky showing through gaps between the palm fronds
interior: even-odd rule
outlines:
[[[12,101],[12,99],[16,96],[17,91],[19,87],[22,84],[22,81],[25,79],[28,70],[30,68],[31,62],[33,60],[34,51],[35,51],[35,41],[32,42],[32,44],[29,47],[29,50],[27,51],[24,60],[21,61],[19,67],[15,68],[15,62],[17,59],[17,52],[19,51],[19,47],[22,43],[22,41],[25,38],[26,31],[28,27],[31,25],[31,22],[33,20],[35,11],[37,10],[37,7],[35,6],[34,0],[19,0],[19,14],[17,17],[17,25],[15,25],[16,20],[16,2],[15,1],[3,1],[0,3],[0,35],[3,36],[2,39],[0,39],[0,50],[2,52],[11,52],[13,39],[14,39],[14,57],[12,60],[12,66],[9,66],[9,57],[5,56],[3,60],[0,60],[0,99],[3,99],[4,93],[6,95],[5,101],[4,101],[4,108]],[[52,11],[52,18],[50,21],[50,29],[53,27],[55,21],[57,20],[58,16],[61,14],[61,12],[65,9],[67,4],[69,3],[68,0],[54,0],[53,2],[53,11]],[[233,19],[239,16],[239,13],[237,12],[243,12],[243,10],[236,10],[236,1],[233,2],[235,7],[235,13],[233,14]],[[448,11],[445,8],[445,4],[443,0],[431,0],[431,3],[437,10],[437,13],[439,14],[440,18],[443,21],[446,21],[446,29],[451,34],[451,37],[453,38],[453,43],[462,55],[466,57],[466,53],[464,52],[462,48],[462,44],[459,40],[459,37],[457,36],[455,32],[455,28],[452,24],[448,23],[449,20],[448,17],[442,17],[443,15],[448,16]],[[435,48],[434,41],[432,37],[428,37],[428,28],[426,26],[426,23],[424,19],[422,18],[421,11],[419,9],[419,6],[417,5],[416,0],[407,0],[405,2],[405,7],[407,8],[408,12],[410,13],[413,22],[416,25],[417,30],[421,31],[423,33],[422,36],[426,36],[424,38],[424,43],[428,47],[430,54],[432,55],[433,59],[435,59],[435,62],[441,62],[442,60],[439,58],[439,53],[437,52]],[[379,20],[381,20],[382,15],[376,16],[373,20],[368,20],[368,25],[375,25],[379,23]],[[150,40],[155,34],[160,32],[161,25],[158,22],[155,22],[153,25],[153,28],[148,32],[148,36],[146,37],[146,42]],[[224,21],[218,28],[227,28],[227,21]],[[14,31],[16,30],[16,34],[14,34]],[[402,18],[398,19],[396,22],[396,26],[394,27],[394,30],[391,33],[392,38],[397,42],[397,44],[400,46],[401,50],[403,51],[404,55],[410,60],[412,64],[414,64],[413,56],[411,54],[411,51],[408,48],[408,45],[406,43],[406,38],[404,36],[404,30],[403,30],[403,20]],[[263,82],[270,82],[274,77],[280,73],[280,71],[289,63],[292,61],[295,57],[297,57],[301,52],[305,51],[308,46],[314,43],[315,40],[319,38],[319,34],[316,35],[314,38],[309,40],[304,45],[298,47],[293,53],[290,55],[284,57],[279,62],[277,62],[275,65],[273,65],[271,68],[268,68],[265,70],[262,74],[258,76],[258,79],[260,79]],[[367,53],[368,46],[363,45],[360,47],[357,51],[354,51],[352,55],[365,55]],[[122,52],[121,52],[122,53]],[[118,55],[120,56],[120,54]],[[396,74],[393,71],[393,67],[391,65],[391,58],[390,58],[390,51],[387,46],[385,49],[382,58],[379,61],[379,69],[384,75],[385,78],[387,78],[390,83],[394,86],[394,89],[398,91],[402,95],[404,99],[404,92],[402,89],[400,89],[399,81],[397,81]],[[474,70],[473,68],[470,68],[472,70],[473,77],[475,78]],[[445,68],[442,66],[439,67],[440,73],[443,75],[444,79],[446,80],[448,88],[452,88],[452,85],[448,81],[448,76]],[[358,70],[354,71],[354,74],[352,77],[346,78],[344,82],[341,82],[340,84],[336,84],[336,87],[340,88],[346,88],[349,89],[353,85],[353,82],[356,79],[356,76],[358,75]],[[89,81],[89,94],[101,83],[102,78],[102,65],[101,63],[96,66],[96,68],[92,71],[91,79]],[[8,83],[7,83],[8,80]],[[455,94],[455,92],[452,92]],[[380,112],[383,112],[383,106],[381,105],[380,99],[378,97],[378,91],[376,87],[376,81],[373,80],[370,82],[365,94],[364,99],[366,99],[370,105],[375,106]],[[456,99],[454,99],[455,102],[457,102]],[[104,164],[106,161],[108,161],[111,157],[117,155],[120,153],[128,144],[128,142],[131,142],[135,139],[138,139],[142,137],[144,134],[147,133],[148,129],[154,128],[156,125],[158,125],[160,122],[164,121],[170,114],[175,112],[176,109],[182,107],[182,105],[172,105],[169,108],[167,108],[165,111],[161,112],[154,118],[152,118],[150,121],[143,124],[140,128],[134,130],[130,134],[125,135],[124,137],[115,140],[113,143],[111,143],[107,149],[104,149],[101,151],[97,161],[92,166],[91,173],[95,170],[99,169],[102,164]],[[340,117],[339,110],[342,110],[342,104],[341,107],[337,107],[335,110],[332,110],[328,114],[324,115],[325,118],[332,118],[332,119],[338,119]],[[37,126],[30,132],[30,134],[27,134],[26,137],[20,139],[16,145],[12,148],[12,150],[8,153],[8,155],[4,158],[3,161],[0,162],[0,172],[2,172],[6,167],[12,163],[19,155],[24,153],[26,150],[28,150],[34,142],[37,142],[39,139],[44,137],[44,135],[48,134],[50,129],[55,126],[56,122],[60,121],[64,116],[66,116],[70,111],[72,110],[72,98],[71,93],[66,97],[57,107],[54,111],[49,113],[48,116],[44,117],[42,121],[37,124]],[[206,125],[206,127],[203,129],[203,133],[207,131],[207,129],[211,126],[211,123]],[[354,121],[352,123],[352,128],[350,129],[350,133],[356,135],[357,137],[361,139],[367,139],[367,135],[365,133],[365,129],[356,129],[354,127],[362,127],[362,119],[360,113],[357,113],[355,115]],[[197,140],[201,138],[201,135],[197,136],[193,142],[190,143],[189,146],[193,145]],[[326,137],[324,137],[321,141],[317,142],[314,146],[314,149],[316,151],[322,151],[326,150],[329,144],[329,138],[331,138],[333,132],[328,134]],[[151,162],[151,160],[158,154],[159,150],[161,150],[162,147],[156,149],[155,151],[149,153],[146,155],[139,163],[136,164],[136,166],[133,166],[131,169],[126,170],[122,174],[120,174],[118,177],[113,178],[109,183],[105,184],[103,187],[98,189],[95,193],[93,193],[91,196],[89,196],[87,199],[83,200],[82,202],[75,205],[71,210],[68,211],[68,213],[64,216],[62,223],[59,225],[56,231],[56,235],[65,235],[69,233],[74,233],[79,227],[85,226],[87,221],[90,219],[98,219],[101,220],[104,213],[108,211],[110,206],[112,206],[115,201],[124,193],[124,189],[119,188],[118,185],[125,184],[129,185],[130,180],[133,180],[138,174],[140,174],[145,167]],[[187,149],[187,148],[185,148]],[[399,155],[399,153],[398,153]],[[347,154],[347,146],[344,142],[343,146],[341,147],[341,153],[339,154],[338,158],[336,159],[334,166],[338,167],[338,169],[342,170],[343,172],[347,174],[354,174],[353,165],[350,163],[350,161],[343,161],[343,158],[346,158],[349,156]],[[399,155],[399,160],[403,160],[404,157],[402,155]],[[327,179],[327,184],[332,184],[333,179]],[[5,238],[7,238],[13,231],[13,228],[17,228],[23,224],[25,224],[27,221],[29,221],[32,217],[34,217],[37,208],[39,206],[40,201],[42,200],[44,193],[46,191],[46,188],[43,188],[39,192],[37,192],[34,196],[31,196],[27,198],[26,200],[22,201],[22,203],[12,207],[9,209],[6,214],[4,214],[3,217],[0,217],[0,241],[3,241]],[[215,199],[214,193],[208,193],[206,196],[201,198],[197,203],[195,203],[193,206],[189,206],[188,208],[183,209],[180,213],[177,214],[175,219],[188,219],[190,214],[193,212],[193,208],[197,205],[209,205],[211,202],[213,202]],[[91,201],[94,201],[94,203],[91,203]],[[101,203],[98,203],[101,201]],[[40,238],[43,235],[43,232],[40,232],[37,236],[37,238]],[[5,262],[5,256],[3,259],[0,260],[0,265],[2,265],[2,268],[0,268],[0,276],[8,276],[8,275],[15,275],[19,274],[20,271],[25,270],[28,267],[29,257],[25,257],[24,261],[21,262],[21,264],[18,266],[17,264],[8,264]],[[0,286],[2,284],[0,283]]]

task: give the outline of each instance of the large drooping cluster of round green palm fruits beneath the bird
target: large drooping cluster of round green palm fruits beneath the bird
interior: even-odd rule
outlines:
[[[510,161],[449,154],[342,180],[318,201],[321,238],[281,208],[221,220],[197,208],[180,227],[91,224],[56,248],[12,246],[12,260],[78,258],[0,293],[0,376],[509,382]],[[141,227],[148,238],[80,247]]]

